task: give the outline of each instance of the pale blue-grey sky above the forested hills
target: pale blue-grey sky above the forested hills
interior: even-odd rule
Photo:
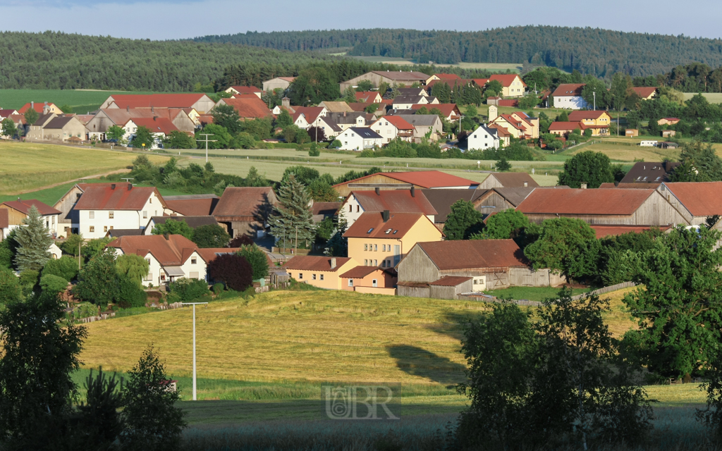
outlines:
[[[0,30],[45,30],[152,40],[247,31],[412,28],[477,31],[511,25],[599,27],[720,38],[722,6],[695,0],[4,0]],[[362,6],[360,6],[362,5]],[[589,11],[586,6],[598,8]],[[668,9],[667,9],[668,8]],[[505,12],[506,11],[506,12]],[[507,13],[516,12],[516,13]],[[1,45],[1,43],[0,43]]]

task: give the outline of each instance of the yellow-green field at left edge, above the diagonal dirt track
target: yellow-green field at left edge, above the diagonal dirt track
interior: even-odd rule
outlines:
[[[101,149],[0,140],[0,196],[27,193],[128,167],[136,155]],[[167,157],[151,155],[152,162]]]

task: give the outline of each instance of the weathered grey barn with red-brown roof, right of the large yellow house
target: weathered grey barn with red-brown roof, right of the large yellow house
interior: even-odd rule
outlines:
[[[555,286],[563,279],[534,271],[514,240],[419,242],[396,267],[399,296],[458,299],[509,286]]]

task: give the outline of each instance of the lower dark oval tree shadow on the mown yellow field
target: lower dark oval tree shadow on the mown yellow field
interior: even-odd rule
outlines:
[[[454,385],[466,378],[466,366],[417,346],[396,345],[387,349],[388,355],[396,359],[396,367],[408,375],[424,377],[445,385]]]

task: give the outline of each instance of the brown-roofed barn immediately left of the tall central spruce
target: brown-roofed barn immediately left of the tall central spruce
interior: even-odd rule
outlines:
[[[213,216],[225,224],[228,235],[260,237],[266,230],[266,222],[278,203],[276,193],[270,186],[225,188]]]

